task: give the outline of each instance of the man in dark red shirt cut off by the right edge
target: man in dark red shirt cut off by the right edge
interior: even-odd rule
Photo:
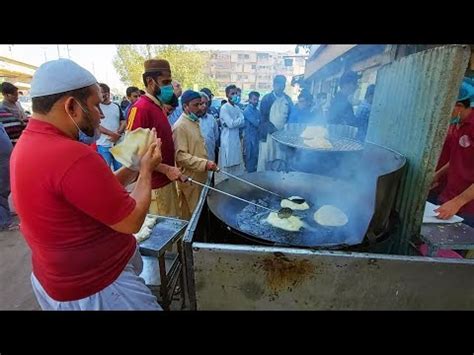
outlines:
[[[449,219],[455,214],[474,226],[474,111],[470,107],[472,92],[463,92],[454,107],[453,117],[459,117],[459,127],[450,131],[449,161],[434,178],[436,186],[446,177],[446,185],[439,196],[442,204],[435,212],[438,218]]]

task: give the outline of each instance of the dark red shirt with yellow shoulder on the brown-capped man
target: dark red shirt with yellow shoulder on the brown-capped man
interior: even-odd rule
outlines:
[[[133,131],[139,127],[150,129],[155,127],[157,137],[161,138],[161,162],[174,166],[174,143],[170,123],[163,109],[145,95],[133,104],[128,114],[127,130]],[[170,182],[165,174],[154,172],[151,188],[158,189]]]

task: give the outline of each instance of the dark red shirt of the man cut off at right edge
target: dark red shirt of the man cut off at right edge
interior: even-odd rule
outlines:
[[[440,195],[440,202],[445,203],[463,193],[474,183],[474,111],[471,112],[452,131],[449,155],[449,170],[446,187]],[[474,215],[474,200],[459,211]]]

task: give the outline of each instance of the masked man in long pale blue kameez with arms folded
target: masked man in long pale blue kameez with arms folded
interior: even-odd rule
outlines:
[[[242,166],[242,145],[240,143],[239,129],[245,125],[244,114],[237,106],[239,103],[237,87],[229,85],[225,88],[225,94],[228,102],[222,106],[220,112],[222,130],[219,166],[231,174],[241,175],[244,169]],[[222,175],[218,174],[216,176],[216,184],[222,181]]]

